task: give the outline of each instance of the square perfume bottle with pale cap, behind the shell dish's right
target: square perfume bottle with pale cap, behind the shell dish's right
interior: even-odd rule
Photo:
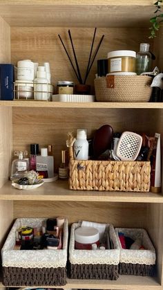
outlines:
[[[41,148],[41,155],[36,156],[36,170],[43,178],[54,177],[54,158],[48,156],[48,148]]]

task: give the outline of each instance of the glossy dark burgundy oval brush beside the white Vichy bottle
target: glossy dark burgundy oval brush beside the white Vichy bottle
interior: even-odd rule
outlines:
[[[93,154],[98,157],[108,149],[113,138],[113,129],[110,125],[103,125],[95,132],[93,138]]]

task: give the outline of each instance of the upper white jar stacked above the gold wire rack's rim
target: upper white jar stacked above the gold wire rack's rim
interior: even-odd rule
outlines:
[[[19,60],[17,62],[17,80],[34,80],[34,63],[31,60]]]

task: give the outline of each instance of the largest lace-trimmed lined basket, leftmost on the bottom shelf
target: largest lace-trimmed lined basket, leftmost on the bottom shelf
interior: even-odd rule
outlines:
[[[13,250],[20,226],[41,226],[44,219],[17,219],[1,250],[5,286],[62,286],[66,284],[68,221],[64,222],[61,250]]]

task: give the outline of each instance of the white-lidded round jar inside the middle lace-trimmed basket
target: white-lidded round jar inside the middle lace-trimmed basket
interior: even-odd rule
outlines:
[[[75,248],[92,250],[92,244],[99,246],[99,230],[91,226],[81,226],[75,230]]]

